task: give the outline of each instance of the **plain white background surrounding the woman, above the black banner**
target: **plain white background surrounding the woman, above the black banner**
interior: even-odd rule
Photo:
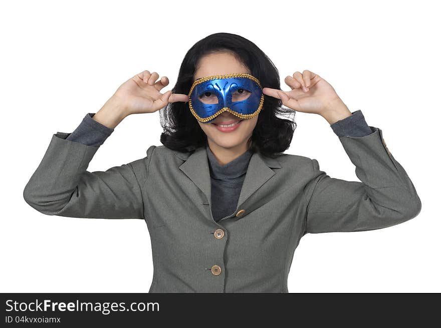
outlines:
[[[308,4],[306,4],[308,3]],[[0,8],[2,214],[0,291],[148,292],[151,244],[143,220],[48,216],[23,190],[52,135],[72,132],[143,71],[176,82],[198,40],[217,32],[256,43],[284,78],[308,69],[351,111],[383,131],[421,198],[420,214],[373,231],[307,234],[290,292],[441,291],[439,260],[439,31],[433,2],[9,2]],[[286,151],[359,181],[320,116],[298,112]],[[161,145],[159,112],[131,115],[91,161],[105,171]]]

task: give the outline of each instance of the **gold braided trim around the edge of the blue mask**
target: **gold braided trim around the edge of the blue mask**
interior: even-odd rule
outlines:
[[[218,112],[216,112],[216,114],[208,116],[206,118],[201,118],[199,115],[196,114],[196,112],[193,109],[193,106],[191,105],[191,93],[193,92],[193,89],[196,85],[208,81],[208,80],[216,80],[216,79],[228,79],[228,78],[249,78],[250,80],[253,80],[254,82],[256,82],[259,87],[262,88],[262,85],[260,84],[260,81],[255,78],[254,76],[252,76],[251,74],[248,73],[233,73],[233,74],[224,74],[224,75],[211,75],[211,76],[207,76],[204,78],[200,78],[197,79],[196,81],[193,82],[193,85],[191,86],[190,92],[188,93],[188,106],[190,107],[190,111],[191,114],[193,114],[193,116],[199,121],[199,122],[207,122],[212,120],[213,118],[215,118],[216,116],[224,113],[225,111],[232,113],[233,115],[241,118],[241,119],[251,119],[255,116],[257,116],[259,114],[259,112],[262,110],[263,104],[264,104],[264,94],[262,93],[262,97],[260,99],[260,103],[259,103],[259,107],[257,108],[256,112],[254,112],[253,114],[239,114],[236,113],[235,111],[231,110],[229,107],[224,107],[223,109],[219,110]],[[213,104],[214,105],[214,104]]]

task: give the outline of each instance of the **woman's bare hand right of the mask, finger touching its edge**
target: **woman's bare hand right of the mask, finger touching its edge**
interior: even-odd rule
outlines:
[[[292,89],[283,91],[263,88],[263,93],[282,100],[282,104],[299,112],[319,114],[330,124],[351,115],[334,88],[317,74],[305,70],[285,78]]]

